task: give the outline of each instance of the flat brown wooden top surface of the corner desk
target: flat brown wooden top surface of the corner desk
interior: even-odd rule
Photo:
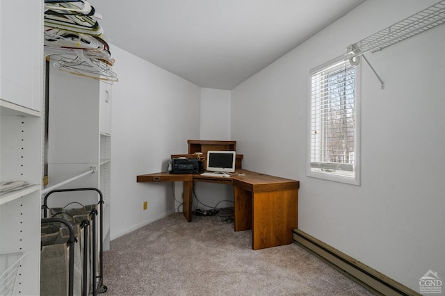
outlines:
[[[241,174],[241,175],[240,175]],[[230,177],[201,176],[200,174],[170,174],[158,172],[141,174],[136,177],[138,182],[165,182],[165,181],[202,181],[211,183],[226,183],[239,186],[250,192],[267,192],[276,190],[289,190],[300,188],[300,182],[278,176],[270,176],[248,170],[236,170]]]

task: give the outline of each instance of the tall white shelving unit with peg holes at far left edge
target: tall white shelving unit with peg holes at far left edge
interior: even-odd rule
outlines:
[[[26,22],[17,22],[17,16]],[[17,5],[14,0],[1,0],[0,31],[0,181],[35,184],[0,195],[0,254],[2,258],[24,254],[17,284],[13,290],[8,288],[8,295],[38,295],[43,1],[24,0]]]

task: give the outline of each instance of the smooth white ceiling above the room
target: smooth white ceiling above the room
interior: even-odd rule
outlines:
[[[112,45],[221,90],[232,90],[364,1],[88,0]]]

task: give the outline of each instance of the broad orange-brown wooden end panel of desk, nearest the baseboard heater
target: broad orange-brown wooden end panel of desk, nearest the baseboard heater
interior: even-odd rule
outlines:
[[[288,245],[298,227],[298,189],[252,193],[252,248]]]

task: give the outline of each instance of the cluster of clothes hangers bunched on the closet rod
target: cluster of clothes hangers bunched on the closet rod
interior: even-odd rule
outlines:
[[[86,0],[44,0],[44,52],[54,66],[73,74],[118,81],[100,16]]]

